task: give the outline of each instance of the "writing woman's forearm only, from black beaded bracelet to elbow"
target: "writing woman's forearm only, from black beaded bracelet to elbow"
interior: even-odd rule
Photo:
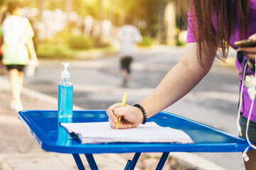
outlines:
[[[146,110],[146,115],[159,113],[178,99],[185,96],[205,74],[196,75],[191,70],[184,68],[180,63],[171,69],[154,91],[144,98],[141,105]]]

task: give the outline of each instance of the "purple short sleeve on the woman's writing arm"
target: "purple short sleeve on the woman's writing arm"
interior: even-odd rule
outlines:
[[[195,13],[189,9],[188,10],[188,31],[186,37],[186,43],[188,42],[196,42],[196,33],[198,31],[197,21]]]

